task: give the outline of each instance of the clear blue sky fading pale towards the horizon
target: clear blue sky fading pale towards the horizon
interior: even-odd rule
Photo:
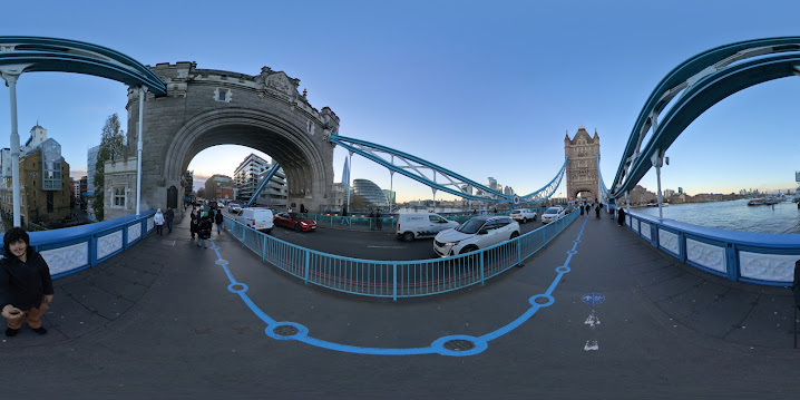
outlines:
[[[599,135],[601,174],[609,183],[645,100],[685,59],[740,40],[800,36],[797,1],[130,4],[13,2],[3,6],[0,36],[88,41],[145,65],[196,61],[197,68],[247,75],[269,66],[300,79],[313,107],[330,107],[340,135],[411,153],[482,184],[491,176],[519,194],[556,175],[565,134],[573,137],[581,126]],[[117,113],[127,120],[126,89],[97,77],[25,74],[18,82],[20,138],[38,123],[80,177],[106,118]],[[0,87],[0,147],[9,146],[8,109],[8,89]],[[662,187],[691,195],[794,188],[799,119],[798,77],[734,94],[667,149]],[[254,152],[212,147],[189,169],[197,184],[213,174],[232,176]],[[334,182],[345,154],[334,150]],[[375,166],[353,156],[351,177],[389,188],[389,172]],[[655,191],[655,172],[641,184]],[[432,197],[430,188],[397,174],[391,185],[400,202]],[[453,197],[437,194],[445,198]]]

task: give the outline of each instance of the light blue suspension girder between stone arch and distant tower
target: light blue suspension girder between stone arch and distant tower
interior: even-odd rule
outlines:
[[[514,202],[514,195],[505,195],[475,181],[464,177],[452,170],[449,170],[445,167],[441,167],[417,156],[410,155],[408,153],[400,152],[379,144],[370,143],[367,140],[339,136],[336,134],[331,134],[330,140],[334,145],[340,145],[349,152],[352,152],[374,163],[378,163],[391,172],[400,173],[401,175],[414,179],[433,189],[442,191],[462,198],[479,202]],[[384,156],[388,156],[389,159],[384,158]],[[402,165],[397,165],[396,160],[402,163]],[[547,185],[545,185],[545,187],[540,188],[539,191],[536,191],[525,196],[519,196],[519,203],[537,204],[553,196],[564,176],[566,165],[567,160],[565,159],[564,165],[556,174],[556,177],[553,178],[553,181],[550,181]],[[425,172],[432,174],[433,177],[429,177],[425,174]],[[437,182],[437,174],[441,176],[442,179],[446,182]],[[469,194],[465,192],[464,186],[471,186],[482,192],[485,195]]]

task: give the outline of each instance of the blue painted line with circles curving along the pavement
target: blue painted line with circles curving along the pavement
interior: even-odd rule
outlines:
[[[550,283],[550,286],[547,289],[547,292],[544,294],[537,294],[529,299],[530,302],[530,309],[526,310],[521,315],[519,315],[514,321],[509,322],[508,324],[504,325],[500,329],[497,329],[495,331],[491,331],[489,333],[486,333],[481,336],[469,336],[469,335],[448,335],[442,336],[437,340],[435,340],[430,347],[427,348],[363,348],[358,345],[350,345],[350,344],[341,344],[341,343],[334,343],[329,342],[322,339],[313,338],[309,335],[309,330],[302,324],[299,324],[296,322],[276,322],[270,315],[267,315],[264,311],[262,311],[247,295],[247,285],[241,282],[236,282],[236,279],[234,277],[233,273],[228,269],[228,262],[225,261],[222,255],[219,254],[219,246],[214,243],[214,240],[209,240],[214,252],[216,253],[218,260],[216,261],[216,264],[222,266],[222,269],[225,271],[225,274],[228,277],[228,281],[231,284],[228,285],[228,291],[238,294],[238,296],[242,299],[242,301],[247,305],[247,308],[257,315],[264,323],[266,323],[266,329],[264,330],[265,334],[272,339],[276,340],[295,340],[300,341],[306,344],[311,344],[318,348],[322,349],[329,349],[333,351],[340,351],[340,352],[348,352],[348,353],[355,353],[355,354],[371,354],[371,355],[418,355],[418,354],[441,354],[441,355],[451,355],[451,357],[465,357],[465,355],[474,355],[484,352],[488,348],[488,342],[495,339],[498,339],[515,329],[519,328],[521,324],[530,320],[530,318],[536,314],[536,312],[543,308],[550,306],[555,303],[555,299],[553,297],[553,292],[558,286],[558,283],[562,281],[562,277],[564,274],[569,273],[569,262],[572,261],[573,255],[577,254],[577,245],[581,243],[581,236],[583,235],[584,230],[586,228],[586,221],[584,219],[583,225],[581,226],[581,231],[577,234],[577,240],[574,241],[573,248],[567,251],[567,260],[564,262],[564,265],[559,265],[556,269],[556,272],[558,273],[556,277],[553,280],[553,283]],[[537,297],[546,297],[548,302],[546,304],[539,304],[536,302]],[[279,335],[274,333],[274,330],[277,326],[294,326],[297,330],[297,333],[294,335]],[[462,350],[462,351],[453,351],[448,350],[445,348],[445,343],[450,340],[466,340],[472,342],[475,345],[470,350]]]

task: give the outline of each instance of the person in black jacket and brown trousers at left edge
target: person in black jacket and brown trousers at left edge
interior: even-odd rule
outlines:
[[[12,227],[3,236],[0,260],[0,306],[7,320],[6,335],[16,336],[22,320],[38,334],[46,334],[41,315],[52,302],[50,267],[41,254],[30,246],[30,236],[21,227]]]

